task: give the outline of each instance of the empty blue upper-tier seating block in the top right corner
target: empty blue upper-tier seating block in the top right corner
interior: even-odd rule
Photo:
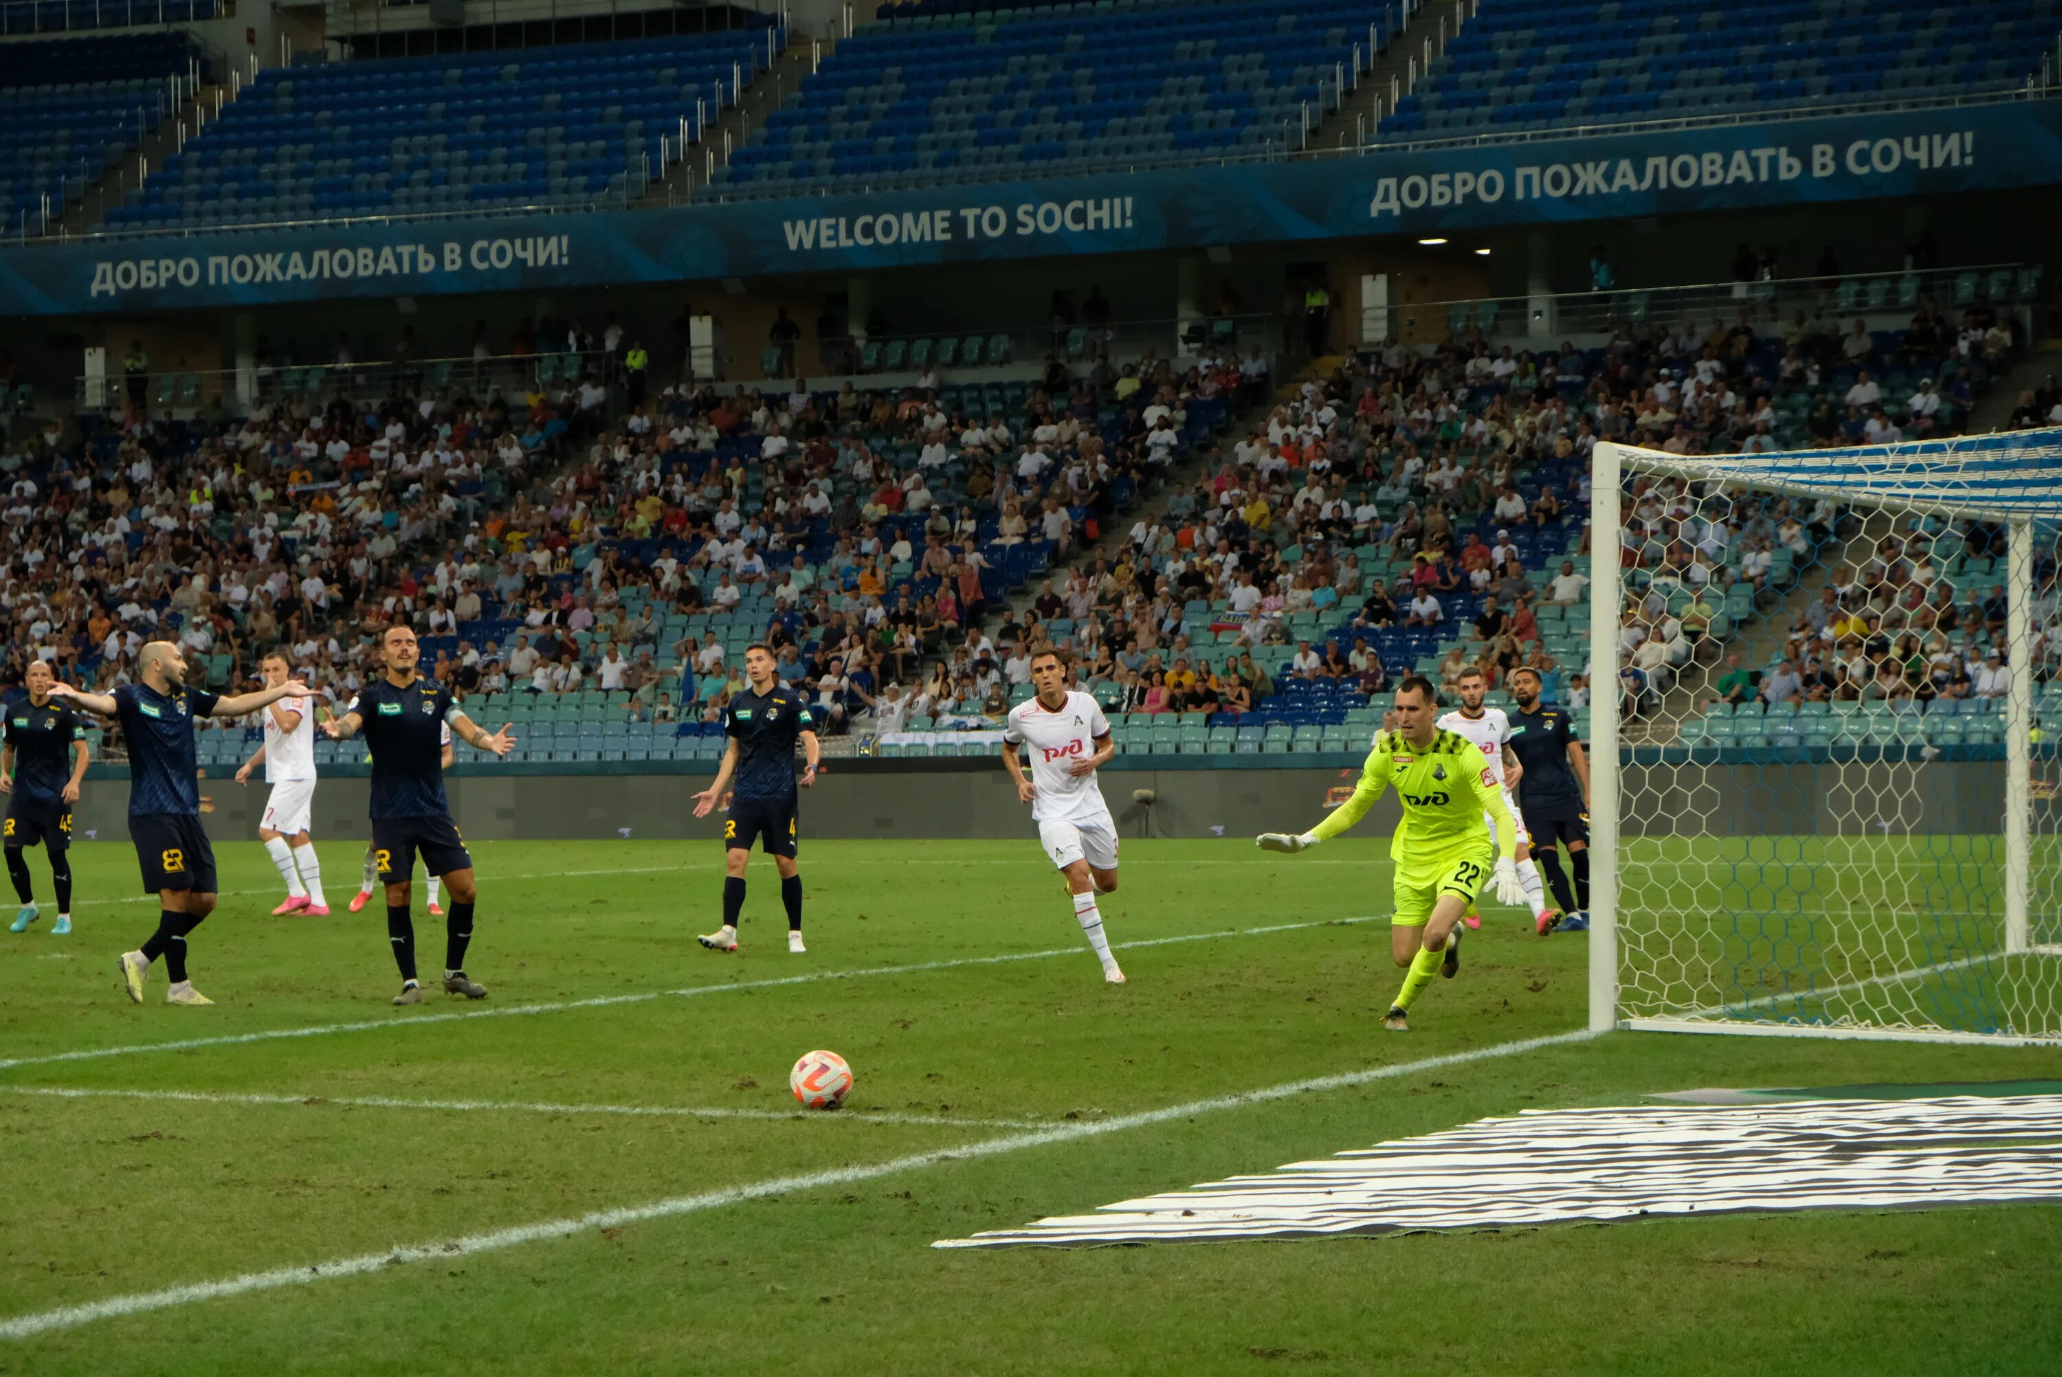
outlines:
[[[1483,0],[1382,132],[1522,132],[2000,93],[2025,85],[2058,27],[2056,0]]]

